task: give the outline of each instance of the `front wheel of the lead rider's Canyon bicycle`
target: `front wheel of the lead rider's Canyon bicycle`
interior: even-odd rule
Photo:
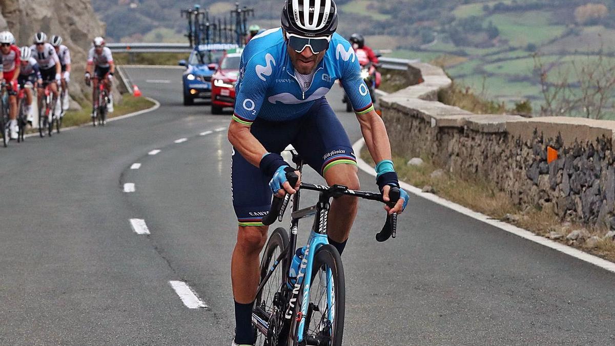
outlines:
[[[325,273],[329,272],[330,275]],[[329,291],[328,287],[331,288]],[[303,285],[300,292],[304,292]],[[330,292],[330,296],[328,294]],[[304,301],[299,297],[298,302]],[[305,318],[303,343],[296,342],[299,323],[295,308],[288,345],[341,346],[344,334],[344,309],[346,307],[346,283],[339,252],[330,244],[318,249],[312,264],[312,280],[309,289],[308,313]],[[330,304],[328,303],[330,301]]]

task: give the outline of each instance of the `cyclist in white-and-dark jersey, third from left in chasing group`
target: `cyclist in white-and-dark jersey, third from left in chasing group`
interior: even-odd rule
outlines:
[[[60,58],[55,52],[54,46],[47,43],[47,35],[45,33],[34,34],[34,44],[30,47],[32,56],[36,59],[41,69],[42,84],[38,86],[37,99],[39,110],[41,109],[41,101],[45,95],[45,87],[49,84],[49,89],[54,95],[53,104],[58,100],[58,84],[60,76],[62,76],[62,65]],[[60,116],[62,109],[55,107],[54,116]]]

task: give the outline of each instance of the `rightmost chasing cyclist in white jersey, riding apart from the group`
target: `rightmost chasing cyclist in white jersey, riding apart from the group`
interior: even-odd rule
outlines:
[[[94,38],[93,47],[87,54],[87,67],[85,68],[85,83],[89,85],[92,78],[92,72],[94,73],[92,86],[94,89],[98,87],[98,82],[103,81],[109,94],[109,103],[107,110],[113,112],[113,93],[111,92],[111,86],[113,82],[113,73],[115,72],[115,64],[113,63],[113,55],[111,55],[111,49],[105,47],[105,39],[101,37]],[[93,66],[93,71],[92,71]],[[92,97],[95,93],[92,93]],[[96,100],[92,99],[92,105],[96,103]],[[92,116],[95,113],[92,111]]]

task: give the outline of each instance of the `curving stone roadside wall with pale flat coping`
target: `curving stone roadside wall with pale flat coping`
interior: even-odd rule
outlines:
[[[451,80],[418,63],[423,83],[381,98],[394,155],[428,155],[451,172],[493,182],[518,206],[615,227],[615,121],[475,115],[437,102]],[[557,159],[547,162],[547,147]]]

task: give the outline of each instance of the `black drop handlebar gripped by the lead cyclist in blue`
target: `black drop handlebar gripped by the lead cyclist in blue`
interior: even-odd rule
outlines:
[[[289,172],[286,174],[288,183],[291,186],[295,186],[299,177],[295,174],[295,172]],[[325,192],[328,191],[331,193],[331,196],[335,195],[348,195],[354,196],[363,199],[370,199],[371,201],[379,201],[381,203],[386,203],[389,207],[394,207],[399,201],[400,198],[400,190],[398,187],[391,187],[389,190],[389,202],[384,202],[383,195],[381,193],[369,192],[369,191],[357,191],[357,190],[349,190],[347,187],[343,187],[341,185],[333,185],[333,187],[327,187],[323,185],[314,185],[311,183],[301,183],[300,189],[304,190],[312,190],[312,191],[320,191]],[[279,198],[274,196],[271,202],[271,209],[269,209],[269,213],[263,217],[263,225],[269,226],[272,223],[276,222],[276,219],[280,216],[280,211],[282,210],[282,206],[284,206],[284,198]],[[397,213],[388,215],[386,222],[381,231],[376,234],[376,240],[379,242],[386,241],[389,238],[395,238],[397,235]]]

